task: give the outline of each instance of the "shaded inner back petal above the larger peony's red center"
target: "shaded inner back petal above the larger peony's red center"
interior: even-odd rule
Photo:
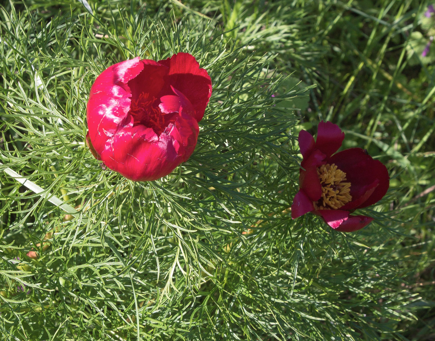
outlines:
[[[141,73],[128,82],[131,89],[131,99],[136,100],[142,93],[158,98],[161,90],[165,87],[169,68],[150,59],[141,60],[141,64],[143,67]]]

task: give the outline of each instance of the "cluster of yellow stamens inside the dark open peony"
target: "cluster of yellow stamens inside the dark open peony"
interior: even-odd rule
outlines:
[[[351,183],[344,182],[346,173],[338,169],[335,164],[324,164],[317,168],[317,174],[322,187],[322,196],[315,201],[316,210],[337,210],[352,200]]]

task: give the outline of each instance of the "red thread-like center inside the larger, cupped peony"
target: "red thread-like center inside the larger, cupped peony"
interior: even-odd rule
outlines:
[[[163,132],[170,120],[165,120],[167,115],[161,112],[156,102],[156,97],[144,92],[136,100],[131,100],[128,113],[133,117],[133,127],[143,124],[145,127],[152,128],[157,135]]]

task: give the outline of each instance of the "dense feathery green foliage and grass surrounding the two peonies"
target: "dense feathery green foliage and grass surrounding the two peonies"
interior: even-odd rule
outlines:
[[[0,8],[4,340],[434,338],[426,4],[88,2]],[[191,159],[147,183],[101,169],[84,143],[95,77],[179,51],[213,84]],[[361,231],[290,218],[296,137],[319,120],[389,170]]]

